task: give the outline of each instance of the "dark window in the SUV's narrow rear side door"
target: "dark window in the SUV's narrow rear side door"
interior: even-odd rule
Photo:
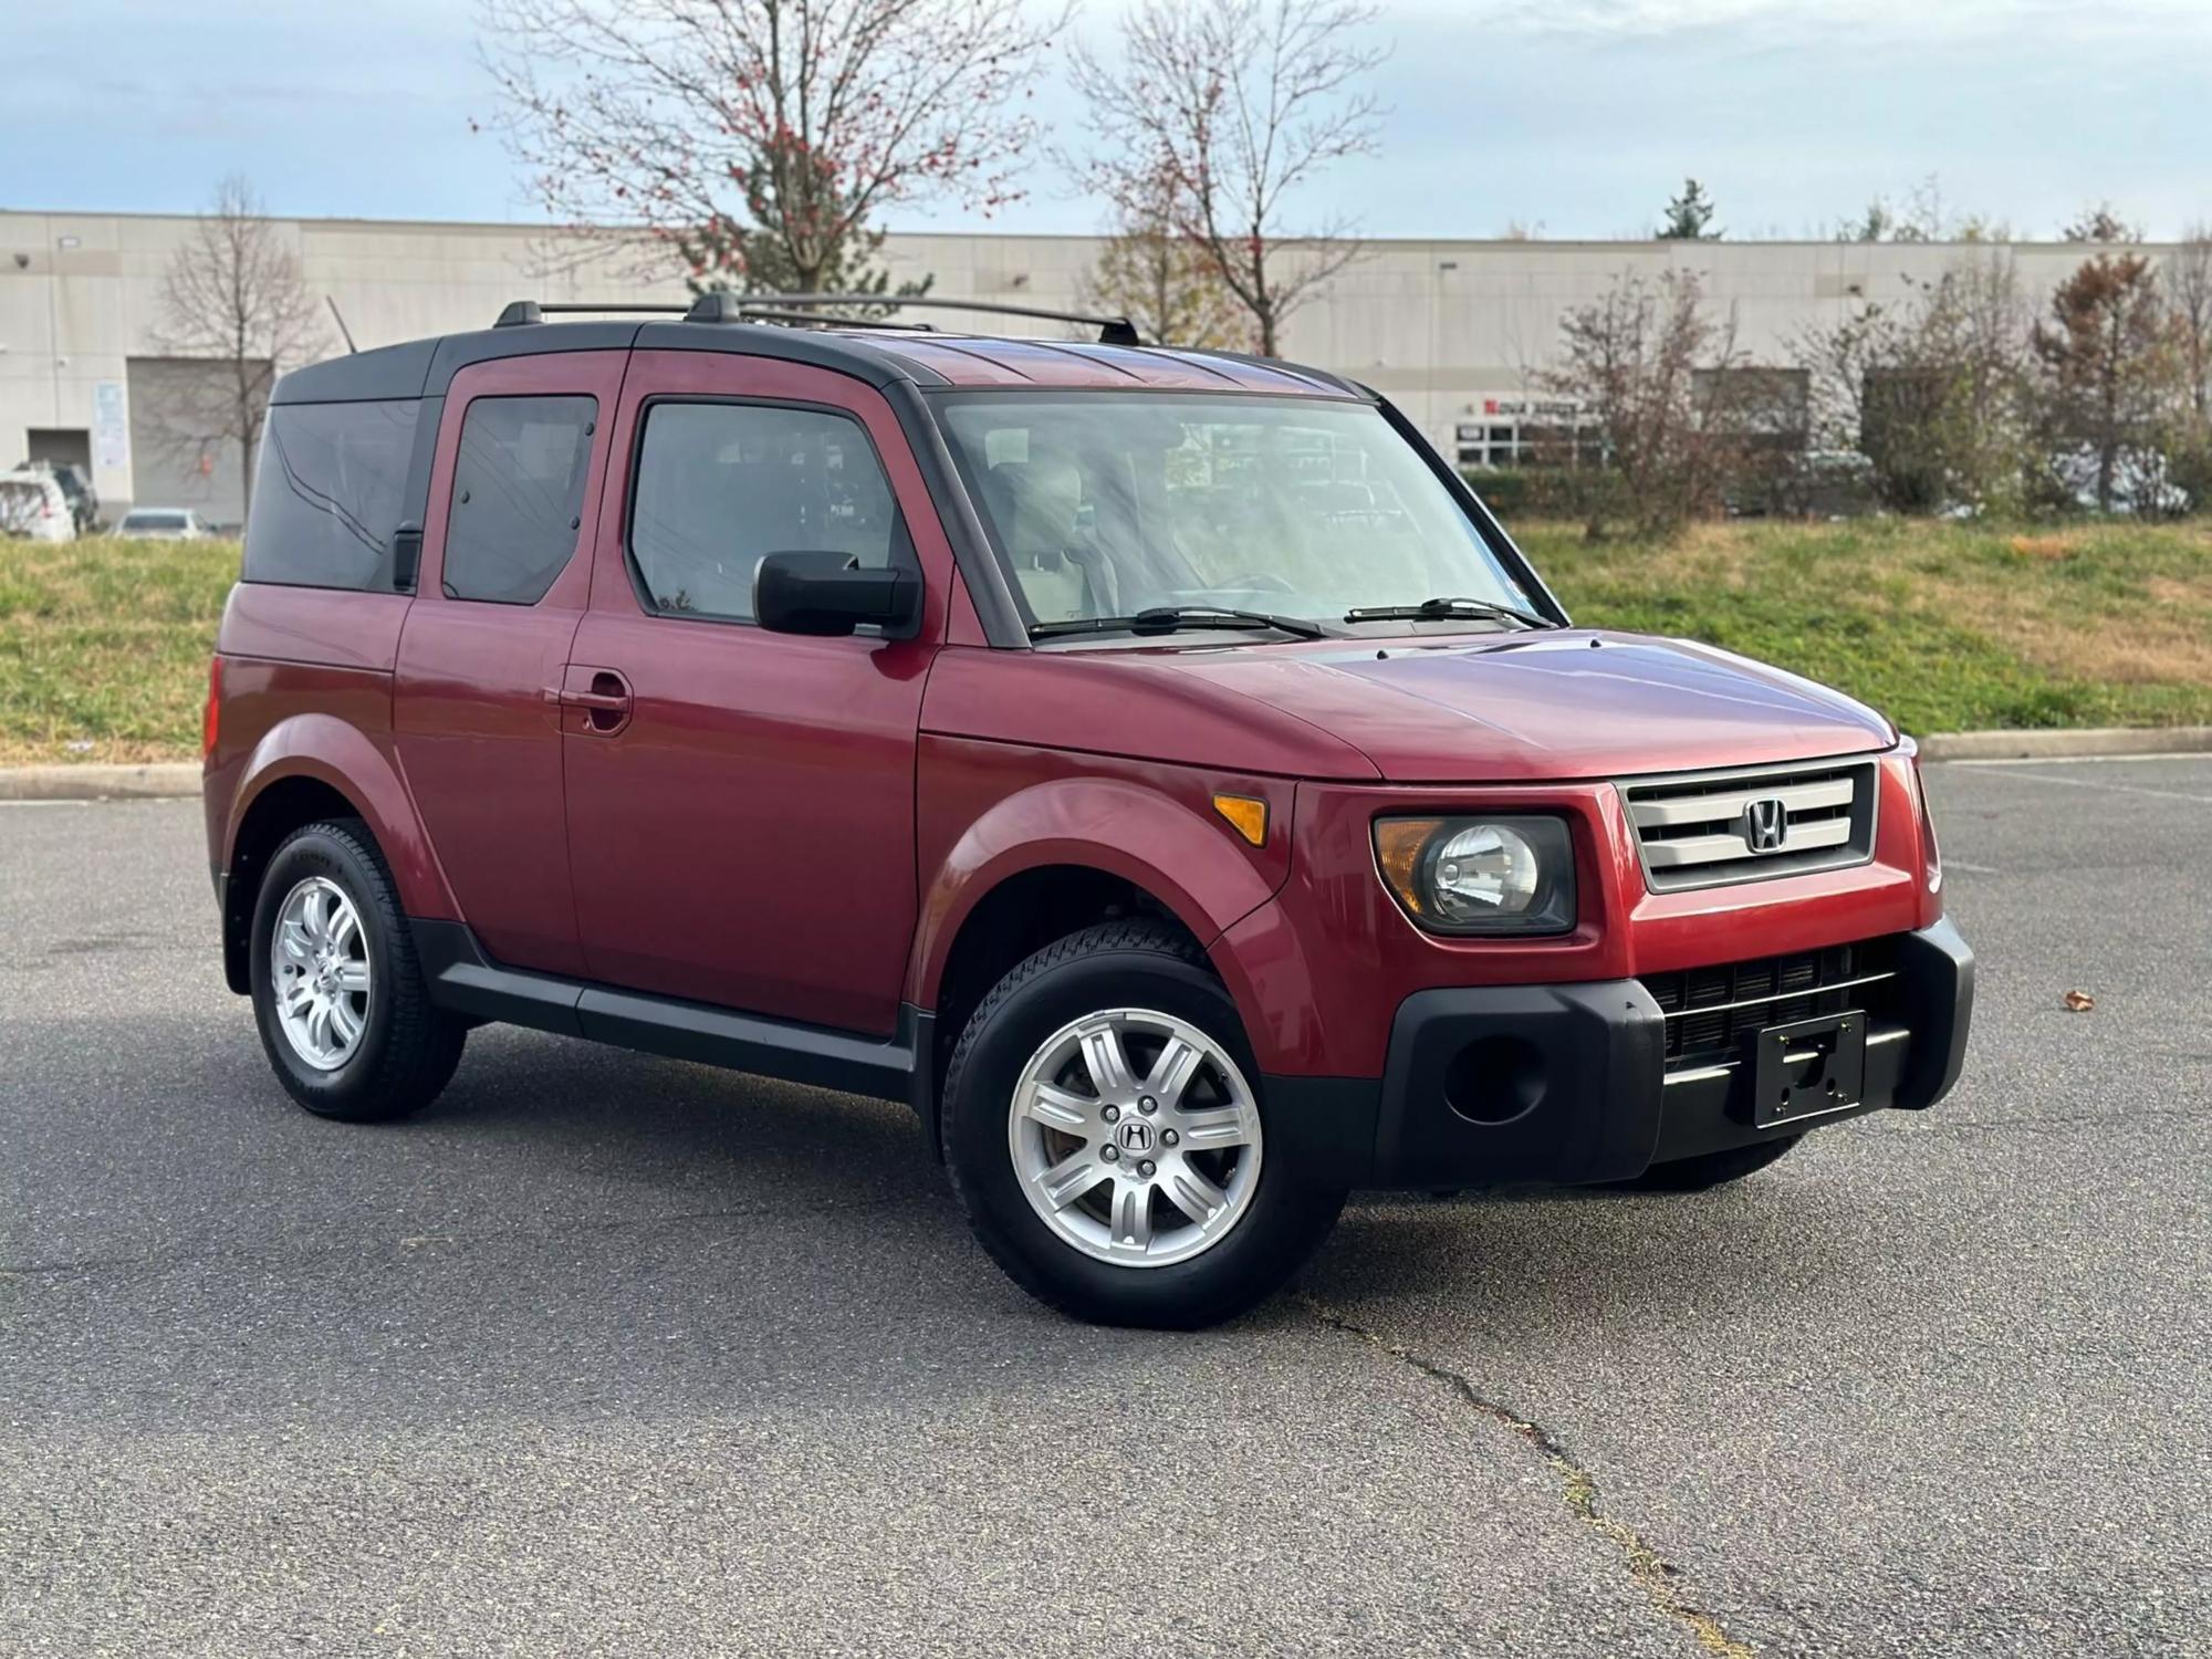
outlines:
[[[445,518],[445,595],[538,604],[575,555],[597,398],[476,398]]]

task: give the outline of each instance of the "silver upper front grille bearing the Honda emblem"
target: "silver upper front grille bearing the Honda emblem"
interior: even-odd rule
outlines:
[[[1692,772],[1619,785],[1655,894],[1863,865],[1874,856],[1874,761]]]

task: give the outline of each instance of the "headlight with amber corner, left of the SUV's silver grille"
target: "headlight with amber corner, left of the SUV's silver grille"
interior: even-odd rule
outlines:
[[[1575,927],[1575,849],[1564,818],[1376,818],[1376,867],[1431,933]]]

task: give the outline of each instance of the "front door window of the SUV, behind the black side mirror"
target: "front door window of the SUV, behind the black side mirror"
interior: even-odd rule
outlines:
[[[668,615],[752,622],[763,553],[898,557],[891,480],[852,416],[757,403],[655,403],[630,493],[630,560]]]

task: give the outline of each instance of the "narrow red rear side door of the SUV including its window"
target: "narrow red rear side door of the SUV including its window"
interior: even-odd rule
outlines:
[[[591,593],[628,352],[460,369],[400,635],[400,765],[462,918],[500,962],[582,973],[562,792],[562,684]]]

